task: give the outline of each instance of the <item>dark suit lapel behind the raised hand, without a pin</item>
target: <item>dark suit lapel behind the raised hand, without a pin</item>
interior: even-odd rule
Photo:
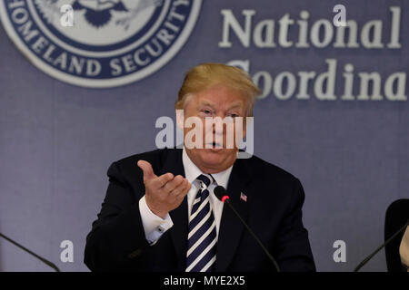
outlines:
[[[185,169],[182,161],[182,150],[167,149],[163,167],[159,175],[172,172],[175,176],[185,177]],[[158,175],[158,176],[159,176]],[[178,270],[185,270],[185,253],[187,247],[187,198],[184,198],[182,204],[169,213],[174,226],[169,230],[177,256]],[[176,270],[176,269],[175,269]]]

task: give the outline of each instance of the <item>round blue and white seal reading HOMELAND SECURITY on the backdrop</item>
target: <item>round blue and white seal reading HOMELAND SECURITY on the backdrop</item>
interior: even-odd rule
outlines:
[[[141,80],[168,63],[192,33],[201,5],[202,0],[0,0],[0,16],[37,68],[63,82],[106,88]],[[72,25],[63,24],[66,13]]]

